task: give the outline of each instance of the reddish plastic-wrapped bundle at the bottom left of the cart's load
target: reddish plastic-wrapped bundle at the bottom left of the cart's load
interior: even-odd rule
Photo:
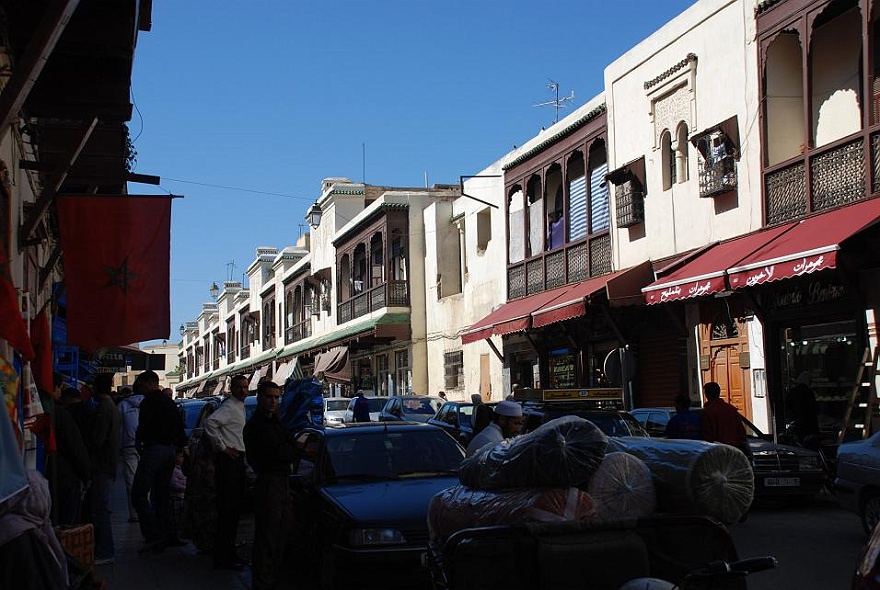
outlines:
[[[598,520],[593,499],[575,487],[508,492],[453,486],[431,498],[428,531],[440,547],[453,533],[476,526]]]

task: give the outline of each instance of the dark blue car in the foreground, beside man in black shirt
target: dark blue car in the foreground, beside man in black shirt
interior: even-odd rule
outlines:
[[[424,587],[428,505],[458,483],[464,450],[414,422],[306,429],[291,477],[293,555],[322,588]]]

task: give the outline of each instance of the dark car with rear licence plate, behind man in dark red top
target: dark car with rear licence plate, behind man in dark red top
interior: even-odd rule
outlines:
[[[701,411],[694,408],[692,412]],[[663,436],[673,408],[636,408],[630,412],[652,436]],[[742,417],[749,448],[754,457],[755,497],[815,496],[828,480],[828,470],[818,452],[773,442],[757,426]],[[880,503],[878,503],[880,511]],[[878,512],[880,514],[880,512]]]

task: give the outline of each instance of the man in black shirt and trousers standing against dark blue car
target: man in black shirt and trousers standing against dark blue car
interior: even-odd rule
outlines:
[[[290,525],[290,464],[299,453],[278,421],[281,388],[271,381],[257,387],[257,410],[244,427],[247,460],[257,474],[254,498],[253,590],[278,586],[284,538]]]

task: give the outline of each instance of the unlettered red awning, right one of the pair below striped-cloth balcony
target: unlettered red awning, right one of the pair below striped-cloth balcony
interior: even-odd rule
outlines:
[[[540,328],[585,315],[587,299],[603,289],[612,305],[641,303],[640,290],[650,280],[651,263],[644,262],[632,268],[560,287],[555,289],[559,295],[532,312],[532,327]]]

